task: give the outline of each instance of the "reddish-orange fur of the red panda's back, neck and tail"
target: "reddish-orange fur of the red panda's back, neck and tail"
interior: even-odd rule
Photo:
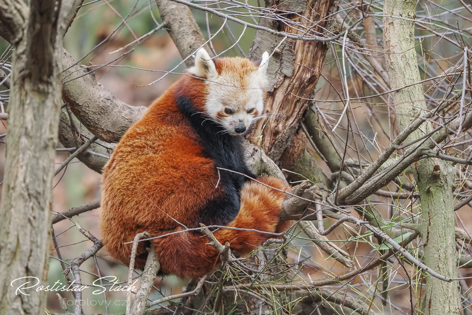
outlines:
[[[126,265],[132,244],[125,242],[143,231],[156,237],[185,230],[183,225],[198,220],[196,209],[209,196],[218,197],[223,191],[216,187],[218,175],[213,161],[203,154],[198,135],[176,105],[176,97],[182,95],[199,110],[204,109],[203,81],[182,77],[128,130],[103,170],[102,241],[110,256]],[[280,190],[289,189],[279,179],[264,176],[258,180]],[[240,194],[239,213],[228,227],[268,232],[287,229],[288,222],[279,223],[286,194],[255,181],[246,182]],[[232,229],[218,229],[213,234],[220,243],[229,242],[240,255],[248,254],[271,237]],[[185,231],[152,239],[151,245],[161,272],[196,279],[220,264],[219,253],[207,242],[201,233]],[[136,268],[144,267],[145,246],[144,242],[138,246]]]

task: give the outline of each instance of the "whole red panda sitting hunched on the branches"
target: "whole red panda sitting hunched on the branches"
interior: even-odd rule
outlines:
[[[200,49],[195,65],[152,103],[118,143],[103,169],[102,242],[111,257],[129,265],[132,241],[139,232],[135,267],[143,269],[146,246],[152,245],[160,274],[197,279],[217,267],[219,253],[206,245],[198,228],[205,225],[280,232],[286,194],[243,175],[257,178],[245,165],[242,136],[260,118],[267,85],[269,54],[261,63],[244,58],[214,58]],[[280,190],[280,179],[258,177]],[[246,255],[270,238],[254,231],[218,229],[220,243],[229,242]]]

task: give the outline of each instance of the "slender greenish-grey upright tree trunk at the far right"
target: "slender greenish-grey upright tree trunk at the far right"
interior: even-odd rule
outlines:
[[[415,7],[416,1],[413,0],[385,0],[383,36],[384,46],[389,47],[385,60],[392,89],[421,80],[414,49],[414,22],[396,18],[416,19]],[[426,110],[421,85],[412,85],[393,93],[393,102],[400,131]],[[405,143],[431,130],[431,123],[427,121]],[[455,169],[445,161],[427,158],[414,163],[413,174],[421,196],[422,221],[419,225],[424,244],[424,263],[446,277],[457,278],[452,195]],[[425,314],[459,314],[460,290],[456,281],[448,283],[426,274],[425,294]]]

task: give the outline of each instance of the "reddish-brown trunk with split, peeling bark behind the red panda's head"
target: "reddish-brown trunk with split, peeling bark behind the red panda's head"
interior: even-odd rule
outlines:
[[[309,0],[305,1],[266,1],[266,7],[277,6],[281,10],[304,10],[301,15],[307,17],[312,23],[320,20],[318,26],[311,32],[324,33],[329,29],[327,16],[337,11],[338,0]],[[290,18],[290,17],[288,17]],[[259,25],[291,33],[295,29],[279,21],[261,18]],[[301,33],[300,33],[301,34]],[[290,144],[295,132],[299,128],[300,120],[308,105],[313,89],[318,82],[321,66],[328,49],[327,43],[308,42],[286,39],[258,30],[254,37],[253,46],[248,55],[249,59],[261,59],[264,51],[275,50],[267,69],[272,92],[266,102],[264,113],[281,113],[277,119],[270,119],[264,130],[265,121],[261,119],[254,131],[251,140],[255,145],[260,145],[267,155],[274,161],[278,161],[282,153]],[[256,139],[262,133],[262,139]]]

